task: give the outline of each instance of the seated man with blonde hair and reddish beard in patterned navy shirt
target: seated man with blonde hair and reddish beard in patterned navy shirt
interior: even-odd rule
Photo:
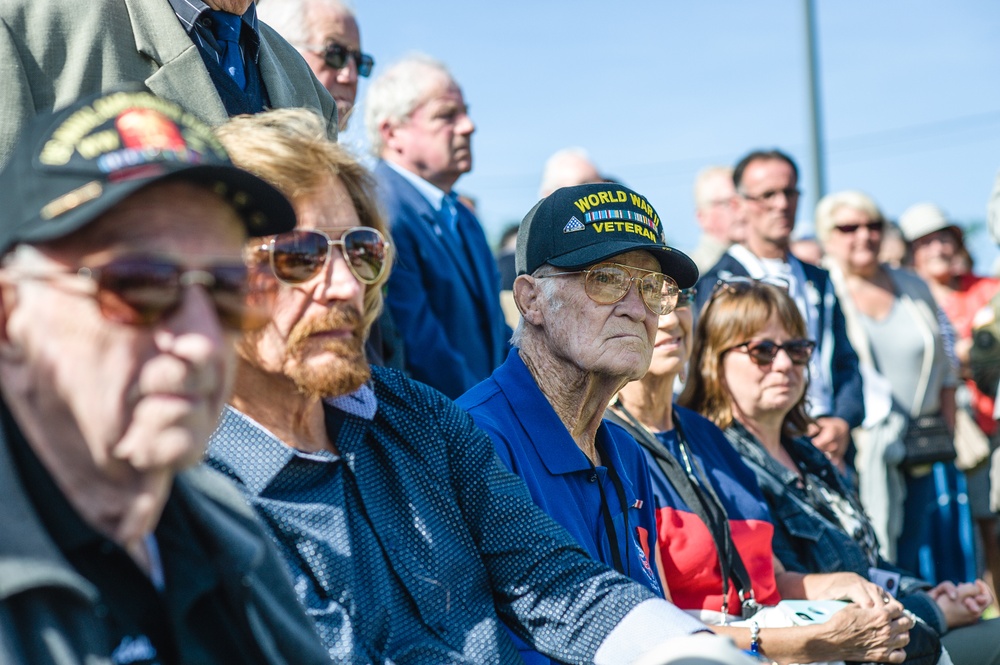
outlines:
[[[385,222],[371,176],[322,130],[284,110],[219,131],[292,194],[299,226],[252,248],[274,318],[238,347],[209,463],[270,526],[333,661],[518,662],[503,621],[561,662],[624,664],[705,630],[589,557],[464,411],[369,368]]]

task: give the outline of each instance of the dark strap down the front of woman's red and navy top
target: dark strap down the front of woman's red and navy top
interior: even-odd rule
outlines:
[[[732,531],[729,528],[729,517],[722,501],[716,494],[712,484],[704,475],[704,470],[698,466],[689,452],[687,439],[676,413],[671,415],[674,430],[677,432],[677,444],[684,458],[684,465],[670,454],[649,429],[639,422],[628,409],[616,400],[608,412],[608,419],[624,427],[641,445],[648,450],[656,460],[657,466],[666,475],[667,480],[680,494],[688,508],[695,513],[708,527],[715,545],[716,556],[719,559],[719,569],[722,572],[722,613],[728,614],[730,578],[741,601],[753,600],[753,586],[750,574],[739,551],[733,545]],[[742,608],[740,608],[742,612]]]

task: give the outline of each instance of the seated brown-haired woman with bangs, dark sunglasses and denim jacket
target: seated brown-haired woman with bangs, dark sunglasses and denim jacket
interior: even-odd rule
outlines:
[[[773,516],[781,567],[866,577],[923,620],[911,630],[914,643],[917,633],[925,639],[932,632],[931,638],[943,637],[956,665],[1000,662],[1000,624],[970,625],[989,603],[985,586],[945,582],[932,588],[886,562],[853,489],[802,436],[809,424],[805,361],[777,347],[804,332],[798,308],[781,289],[760,283],[720,287],[698,322],[692,377],[680,403],[723,428],[753,470]],[[767,343],[766,354],[743,351]]]

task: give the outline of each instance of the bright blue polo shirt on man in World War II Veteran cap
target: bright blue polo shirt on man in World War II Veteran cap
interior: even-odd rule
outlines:
[[[518,349],[512,349],[490,378],[471,388],[456,403],[490,435],[500,459],[524,480],[535,503],[565,527],[592,557],[612,566],[606,510],[617,536],[614,546],[625,568],[623,572],[663,595],[653,562],[653,488],[646,458],[635,439],[607,421],[597,430],[602,461],[614,467],[621,481],[626,520],[626,510],[608,467],[591,466],[538,388]],[[515,642],[529,665],[555,662],[516,638]]]

